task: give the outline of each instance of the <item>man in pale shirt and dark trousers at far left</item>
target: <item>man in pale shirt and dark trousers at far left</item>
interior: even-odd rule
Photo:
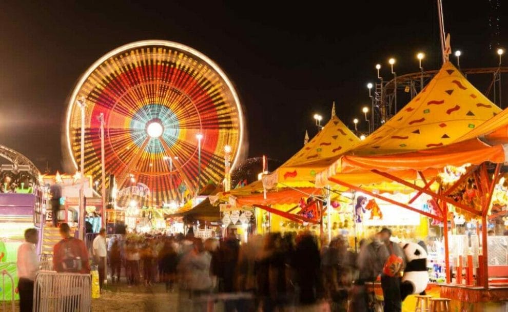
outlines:
[[[19,282],[19,311],[32,312],[33,308],[33,283],[39,270],[39,260],[35,252],[38,242],[38,233],[35,228],[25,231],[25,242],[17,249],[17,276]]]

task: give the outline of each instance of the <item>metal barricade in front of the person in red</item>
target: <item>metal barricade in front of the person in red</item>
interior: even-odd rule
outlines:
[[[90,312],[90,274],[41,271],[33,292],[34,312]]]

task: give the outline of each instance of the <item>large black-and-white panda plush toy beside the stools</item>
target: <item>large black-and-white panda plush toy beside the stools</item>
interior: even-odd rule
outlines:
[[[408,295],[423,294],[427,288],[427,252],[413,242],[401,243],[400,246],[406,256],[406,267],[400,284],[400,295],[404,301]]]

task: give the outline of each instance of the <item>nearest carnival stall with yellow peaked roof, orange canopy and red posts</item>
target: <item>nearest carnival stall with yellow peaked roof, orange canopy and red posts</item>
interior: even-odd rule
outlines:
[[[502,144],[507,142],[506,116],[446,62],[399,113],[317,176],[318,186],[337,183],[442,222],[447,284],[441,286],[440,293],[452,299],[452,310],[466,307],[480,311],[486,301],[500,305],[499,299],[507,297],[508,288],[489,279],[492,270],[487,257],[489,241],[495,241],[487,237],[487,215],[505,161]],[[379,181],[404,185],[416,193],[410,200],[401,201],[363,187]],[[460,197],[454,196],[457,192]],[[431,197],[434,211],[425,212],[413,205],[422,194]],[[477,226],[481,233],[471,241],[454,238],[462,243],[453,242],[452,246],[448,222],[453,226],[457,216],[481,220],[481,227]],[[479,248],[466,248],[475,244],[481,245],[478,267],[473,258]],[[454,249],[468,256],[465,285],[460,280],[451,284],[450,252]],[[462,260],[458,258],[460,266]],[[461,276],[459,273],[457,278]]]

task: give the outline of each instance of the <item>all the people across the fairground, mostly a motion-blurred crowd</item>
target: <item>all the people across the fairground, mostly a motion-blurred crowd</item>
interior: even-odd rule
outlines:
[[[332,311],[348,307],[369,311],[372,306],[366,284],[379,275],[384,311],[401,310],[400,277],[382,274],[390,254],[404,257],[400,247],[390,241],[387,228],[371,241],[362,240],[358,252],[344,237],[327,243],[310,232],[253,235],[246,243],[235,236],[219,241],[183,234],[130,234],[116,235],[106,243],[106,233],[101,231],[89,255],[85,243],[70,237],[69,232],[69,226],[62,224],[62,241],[54,247],[55,271],[89,273],[89,259],[101,270],[100,263],[108,257],[113,283],[123,278],[128,287],[164,283],[166,292],[178,290],[178,297],[191,302],[193,310],[206,311],[210,298],[220,294],[226,312],[271,312],[321,304],[330,305]],[[34,253],[36,238],[27,231],[26,240],[18,255],[22,311],[31,310],[25,308],[24,300],[28,305],[28,298],[33,297],[29,293],[33,293],[37,267],[36,257],[22,255]],[[28,262],[32,263],[27,267]],[[100,276],[104,279],[105,272]]]

